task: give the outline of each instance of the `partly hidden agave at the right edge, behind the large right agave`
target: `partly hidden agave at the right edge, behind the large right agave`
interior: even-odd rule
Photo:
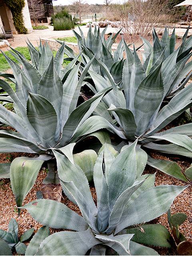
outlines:
[[[169,30],[165,28],[161,39],[158,38],[154,29],[153,46],[145,38],[142,38],[145,50],[143,53],[143,67],[146,72],[150,72],[150,68],[155,64],[162,52],[164,52],[162,79],[165,86],[167,86],[165,93],[167,100],[182,90],[192,77],[192,62],[187,63],[192,50],[192,36],[187,39],[188,31],[189,27],[182,38],[182,44],[177,49],[175,49],[175,28],[171,37],[169,37]]]

